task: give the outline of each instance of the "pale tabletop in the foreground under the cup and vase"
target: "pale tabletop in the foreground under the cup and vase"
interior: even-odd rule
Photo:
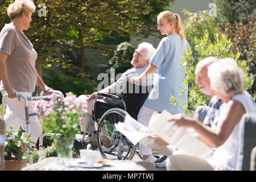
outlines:
[[[132,160],[106,160],[106,165],[96,168],[81,167],[80,159],[71,159],[71,166],[57,163],[57,157],[49,157],[22,168],[22,171],[155,171],[151,162],[134,162]]]

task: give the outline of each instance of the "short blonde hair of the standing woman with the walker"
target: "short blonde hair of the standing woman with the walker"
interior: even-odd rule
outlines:
[[[31,0],[15,0],[14,3],[11,3],[7,9],[7,14],[10,19],[14,19],[18,16],[21,16],[22,13],[26,15],[31,12],[34,13],[36,6]]]

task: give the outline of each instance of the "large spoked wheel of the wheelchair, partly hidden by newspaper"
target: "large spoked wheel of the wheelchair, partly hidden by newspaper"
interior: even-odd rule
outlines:
[[[100,119],[97,142],[101,155],[105,159],[133,159],[136,146],[114,126],[114,123],[123,122],[126,114],[126,111],[114,108],[106,111]]]

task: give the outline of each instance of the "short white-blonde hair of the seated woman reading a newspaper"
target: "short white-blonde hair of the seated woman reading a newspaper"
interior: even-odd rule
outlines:
[[[220,90],[223,96],[230,93],[239,94],[243,91],[243,71],[231,58],[220,59],[208,67],[210,88]]]

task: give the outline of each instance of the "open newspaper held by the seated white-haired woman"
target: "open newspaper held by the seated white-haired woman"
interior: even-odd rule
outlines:
[[[168,122],[172,118],[172,114],[167,110],[162,113],[155,112],[148,124],[148,128],[130,115],[126,115],[123,123],[118,122],[115,127],[118,131],[123,133],[133,144],[142,143],[145,146],[159,151],[164,155],[171,155],[170,147],[160,147],[154,143],[154,139],[149,138],[151,130],[168,144],[175,146],[184,154],[197,156],[200,158],[207,158],[213,152],[213,148],[197,139],[195,130],[187,129],[185,127],[174,126],[174,122]]]

